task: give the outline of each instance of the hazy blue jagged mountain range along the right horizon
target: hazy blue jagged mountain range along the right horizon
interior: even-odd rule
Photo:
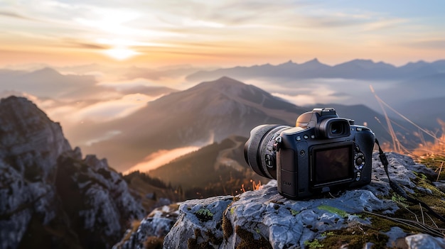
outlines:
[[[297,64],[289,62],[280,65],[254,65],[252,67],[230,67],[211,71],[198,71],[189,74],[186,79],[190,81],[205,81],[219,77],[232,77],[234,79],[252,78],[341,78],[341,79],[411,79],[425,77],[445,72],[445,60],[436,62],[409,62],[402,67],[385,62],[372,60],[351,60],[338,65],[330,66],[317,59]]]

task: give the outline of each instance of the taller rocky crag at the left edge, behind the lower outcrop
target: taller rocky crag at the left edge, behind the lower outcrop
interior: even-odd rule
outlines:
[[[54,181],[57,158],[71,150],[58,123],[14,96],[0,102],[0,247],[17,248],[39,216],[58,213]]]

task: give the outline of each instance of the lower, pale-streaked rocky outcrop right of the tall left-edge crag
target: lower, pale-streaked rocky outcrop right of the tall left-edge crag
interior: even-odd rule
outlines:
[[[82,160],[78,148],[58,158],[55,189],[84,248],[110,248],[129,223],[144,216],[122,176],[95,155]]]

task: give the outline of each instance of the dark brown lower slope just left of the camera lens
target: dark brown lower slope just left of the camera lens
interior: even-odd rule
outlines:
[[[181,186],[186,199],[237,194],[244,184],[252,190],[252,183],[269,179],[250,169],[244,158],[247,138],[230,136],[220,143],[207,145],[188,155],[178,157],[149,175],[159,177],[173,186]]]

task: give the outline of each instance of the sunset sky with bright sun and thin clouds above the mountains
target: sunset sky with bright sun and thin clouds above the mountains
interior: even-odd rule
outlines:
[[[445,1],[0,0],[0,67],[445,57]]]

